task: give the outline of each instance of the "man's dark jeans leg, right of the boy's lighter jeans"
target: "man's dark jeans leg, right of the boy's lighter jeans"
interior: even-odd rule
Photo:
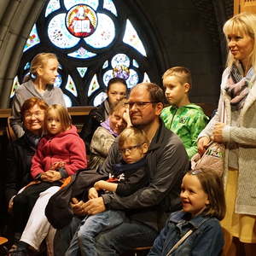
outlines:
[[[135,247],[152,246],[158,232],[139,222],[122,224],[96,236],[96,255],[115,256]]]

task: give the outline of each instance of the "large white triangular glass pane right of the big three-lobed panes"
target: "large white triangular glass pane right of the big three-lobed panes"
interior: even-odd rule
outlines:
[[[125,44],[131,45],[131,47],[137,49],[142,55],[146,55],[146,50],[143,46],[141,39],[138,37],[135,28],[132,26],[131,21],[126,21],[125,36],[123,38]]]

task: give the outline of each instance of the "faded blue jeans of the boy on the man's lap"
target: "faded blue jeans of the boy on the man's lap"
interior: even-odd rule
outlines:
[[[123,223],[125,212],[106,211],[85,217],[76,231],[65,256],[96,256],[95,237]]]

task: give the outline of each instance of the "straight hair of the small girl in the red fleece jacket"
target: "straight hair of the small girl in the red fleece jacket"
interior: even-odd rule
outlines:
[[[44,121],[44,129],[45,131],[47,131],[47,118],[49,115],[49,111],[54,110],[55,113],[58,115],[60,122],[61,122],[61,131],[67,131],[68,129],[71,128],[72,125],[72,119],[70,114],[67,112],[67,108],[63,107],[60,104],[54,104],[49,106],[49,108],[47,109],[46,113],[45,113],[45,121]]]

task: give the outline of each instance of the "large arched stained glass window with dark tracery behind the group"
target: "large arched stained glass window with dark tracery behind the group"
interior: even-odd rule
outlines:
[[[121,0],[46,1],[24,46],[11,96],[29,72],[32,57],[45,51],[58,56],[61,68],[55,86],[63,91],[68,107],[99,105],[114,77],[125,79],[129,88],[157,77],[154,53],[149,59],[146,50],[153,49],[150,38],[139,33],[143,30],[131,13]]]

